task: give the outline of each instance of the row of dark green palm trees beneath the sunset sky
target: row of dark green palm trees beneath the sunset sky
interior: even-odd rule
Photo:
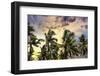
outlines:
[[[37,60],[60,60],[69,58],[83,58],[87,57],[87,39],[82,34],[79,40],[75,39],[75,34],[69,30],[64,30],[62,37],[62,44],[57,43],[58,39],[54,38],[56,33],[49,29],[48,33],[45,33],[45,40],[38,39],[34,34],[34,29],[28,26],[28,45],[30,50],[28,52],[28,60],[32,61],[34,48],[32,46],[39,47],[38,44],[45,41],[45,44],[41,48],[40,55]],[[40,47],[39,47],[40,48]]]

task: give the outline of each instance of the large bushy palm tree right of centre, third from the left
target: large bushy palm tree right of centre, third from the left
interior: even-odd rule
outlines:
[[[64,31],[63,35],[63,47],[64,47],[64,58],[77,56],[79,51],[77,50],[75,35],[69,30]]]

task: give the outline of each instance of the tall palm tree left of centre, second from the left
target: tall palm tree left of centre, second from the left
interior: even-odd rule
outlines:
[[[45,33],[46,44],[41,49],[43,60],[57,59],[58,47],[57,39],[53,37],[54,35],[55,32],[50,29],[48,33]]]

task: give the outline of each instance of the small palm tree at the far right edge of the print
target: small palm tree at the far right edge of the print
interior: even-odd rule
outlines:
[[[85,36],[82,34],[81,37],[79,38],[80,41],[80,53],[82,56],[86,56],[88,51],[87,51],[87,46],[88,46],[88,41],[85,38]]]

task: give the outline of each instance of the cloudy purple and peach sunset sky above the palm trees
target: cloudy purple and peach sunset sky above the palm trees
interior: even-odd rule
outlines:
[[[52,29],[56,33],[58,43],[61,43],[65,29],[74,32],[76,39],[81,34],[84,34],[86,38],[88,36],[88,17],[28,15],[28,23],[35,29],[34,34],[39,38],[44,39],[44,33]]]

